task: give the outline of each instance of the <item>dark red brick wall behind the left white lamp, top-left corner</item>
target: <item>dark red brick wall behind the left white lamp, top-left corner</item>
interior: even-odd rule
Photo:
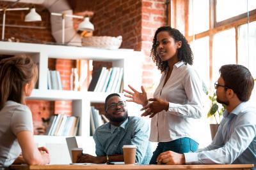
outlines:
[[[10,2],[1,2],[0,8],[12,4]],[[12,8],[29,7],[28,4],[19,3]],[[42,6],[36,5],[36,11],[41,15],[42,22],[24,22],[25,16],[29,11],[6,11],[6,27],[4,38],[14,37],[27,43],[47,43],[54,42],[51,34],[50,14]],[[0,12],[0,23],[3,22],[3,11]],[[2,32],[2,26],[0,27]],[[2,35],[1,35],[2,36]]]

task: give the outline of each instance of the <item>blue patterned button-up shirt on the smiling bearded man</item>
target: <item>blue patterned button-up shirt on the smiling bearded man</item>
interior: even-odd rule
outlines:
[[[149,138],[149,126],[142,118],[128,117],[116,127],[110,123],[98,127],[93,135],[96,155],[123,155],[124,145],[136,145],[136,162],[148,164],[152,157]]]

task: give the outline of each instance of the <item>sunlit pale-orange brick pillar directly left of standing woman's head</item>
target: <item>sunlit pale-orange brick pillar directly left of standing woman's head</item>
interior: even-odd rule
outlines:
[[[154,75],[159,73],[156,65],[152,62],[150,51],[154,32],[158,27],[166,25],[166,0],[143,0],[142,1],[142,18],[141,18],[141,50],[145,53],[143,63],[143,79],[142,83],[146,87],[149,96],[156,89],[157,80]]]

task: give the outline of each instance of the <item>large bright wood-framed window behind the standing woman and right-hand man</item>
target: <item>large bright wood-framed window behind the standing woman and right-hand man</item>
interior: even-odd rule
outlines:
[[[224,64],[248,67],[256,88],[255,0],[171,0],[170,4],[170,24],[184,31],[194,53],[193,67],[210,93],[215,91],[214,82],[220,76],[219,69]],[[256,89],[250,100],[255,103]],[[203,128],[205,134],[207,129]],[[205,136],[198,136],[198,139],[200,147],[207,146],[211,141],[207,141]]]

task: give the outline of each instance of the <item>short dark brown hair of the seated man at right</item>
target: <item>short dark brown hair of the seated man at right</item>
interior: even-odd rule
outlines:
[[[254,81],[249,69],[238,64],[227,64],[220,67],[220,74],[225,86],[232,89],[240,101],[250,99]]]

